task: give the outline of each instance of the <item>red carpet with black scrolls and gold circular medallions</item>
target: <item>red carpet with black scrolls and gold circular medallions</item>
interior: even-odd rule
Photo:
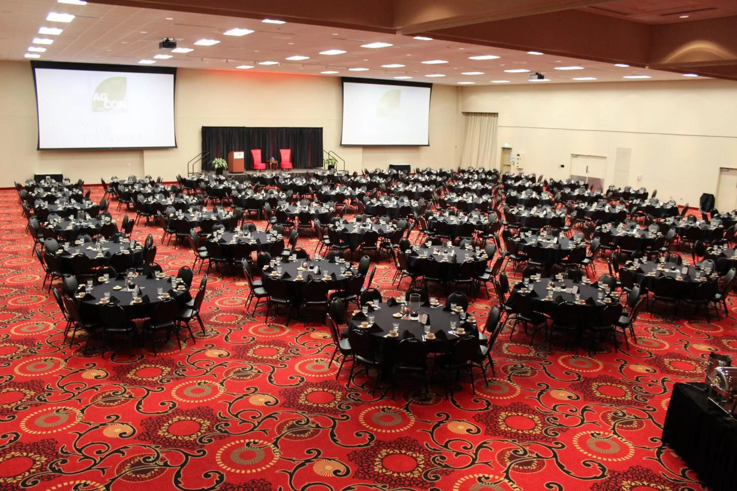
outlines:
[[[701,380],[710,351],[737,353],[731,319],[645,314],[629,353],[595,358],[503,334],[475,397],[468,381],[447,399],[405,383],[393,400],[335,381],[326,327],[266,325],[245,314],[245,278],[211,275],[196,345],[103,359],[63,343],[15,191],[0,213],[0,490],[705,489],[660,434],[673,384]],[[147,233],[158,244],[154,227],[133,236]],[[158,244],[157,261],[175,271],[192,252]],[[392,275],[380,264],[385,296]]]

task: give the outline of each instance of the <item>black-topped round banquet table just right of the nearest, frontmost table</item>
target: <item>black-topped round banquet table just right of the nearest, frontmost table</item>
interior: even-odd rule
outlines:
[[[583,304],[576,303],[576,308],[580,311],[578,318],[584,326],[597,325],[598,321],[601,319],[601,313],[604,311],[604,308],[607,307],[607,305],[616,303],[616,300],[612,300],[611,298],[609,298],[609,303],[599,301],[599,289],[597,286],[589,283],[579,283],[568,279],[558,280],[553,278],[554,286],[556,288],[560,287],[560,291],[551,292],[548,290],[549,280],[551,280],[551,278],[541,278],[537,281],[532,281],[530,283],[531,288],[528,287],[529,291],[525,294],[530,298],[533,310],[541,314],[553,314],[559,303],[575,303],[575,295],[572,292],[565,292],[565,289],[573,288],[574,285],[579,287],[581,300],[584,300]],[[520,290],[523,289],[524,286],[524,283],[517,283],[517,285],[514,286],[513,294],[523,294]],[[553,300],[545,300],[549,293],[552,293]],[[604,297],[604,300],[607,300],[607,297]]]

